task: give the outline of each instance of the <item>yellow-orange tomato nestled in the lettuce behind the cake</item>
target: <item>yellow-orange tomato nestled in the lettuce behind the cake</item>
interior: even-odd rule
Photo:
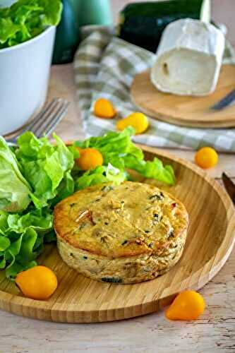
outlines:
[[[80,157],[76,160],[80,169],[95,169],[103,164],[102,154],[95,148],[79,149]]]

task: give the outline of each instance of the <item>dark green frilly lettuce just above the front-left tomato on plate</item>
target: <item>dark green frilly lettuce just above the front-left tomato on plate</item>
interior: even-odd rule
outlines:
[[[0,268],[6,276],[15,277],[19,270],[27,270],[42,253],[44,237],[52,232],[52,212],[32,210],[25,215],[0,213]]]

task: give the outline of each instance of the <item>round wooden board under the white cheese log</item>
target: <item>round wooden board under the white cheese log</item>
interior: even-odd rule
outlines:
[[[235,88],[235,65],[223,65],[214,93],[204,97],[160,92],[150,81],[150,70],[135,76],[131,98],[152,118],[181,126],[225,128],[235,126],[235,104],[215,112],[212,107]]]

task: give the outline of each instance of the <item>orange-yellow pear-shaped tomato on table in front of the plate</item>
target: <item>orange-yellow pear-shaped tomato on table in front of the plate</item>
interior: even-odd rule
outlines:
[[[196,320],[205,309],[203,297],[193,290],[186,290],[177,295],[166,310],[169,320]]]

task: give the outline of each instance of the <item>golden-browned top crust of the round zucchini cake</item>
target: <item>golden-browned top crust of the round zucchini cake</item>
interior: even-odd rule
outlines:
[[[54,210],[57,239],[97,256],[162,256],[186,234],[188,213],[174,196],[125,181],[74,193]]]

